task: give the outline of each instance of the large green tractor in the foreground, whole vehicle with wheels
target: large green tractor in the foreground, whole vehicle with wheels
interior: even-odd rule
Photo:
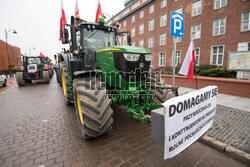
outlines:
[[[124,105],[130,117],[148,122],[151,110],[178,95],[177,88],[166,87],[150,74],[149,50],[117,45],[116,37],[123,34],[105,25],[104,18],[90,23],[73,16],[61,31],[62,43],[70,43],[69,51],[61,54],[63,94],[66,104],[75,105],[84,139],[112,128],[111,104]]]

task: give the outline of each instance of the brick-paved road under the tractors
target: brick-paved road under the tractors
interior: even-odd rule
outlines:
[[[66,106],[55,77],[0,89],[0,166],[244,166],[199,142],[163,160],[163,149],[151,141],[150,124],[114,111],[113,129],[95,140],[83,140],[73,106]],[[5,91],[4,93],[1,93]]]

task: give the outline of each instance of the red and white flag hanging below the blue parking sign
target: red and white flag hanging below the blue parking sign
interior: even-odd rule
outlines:
[[[194,81],[194,69],[193,63],[195,62],[194,57],[194,42],[191,40],[186,57],[183,61],[179,74],[186,75],[190,81]]]

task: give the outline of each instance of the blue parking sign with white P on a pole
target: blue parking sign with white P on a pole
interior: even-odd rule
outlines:
[[[170,36],[184,37],[184,14],[171,11]]]

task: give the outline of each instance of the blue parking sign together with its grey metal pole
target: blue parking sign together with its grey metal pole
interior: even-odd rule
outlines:
[[[170,36],[174,37],[172,86],[175,85],[176,37],[184,37],[184,14],[171,11]]]

